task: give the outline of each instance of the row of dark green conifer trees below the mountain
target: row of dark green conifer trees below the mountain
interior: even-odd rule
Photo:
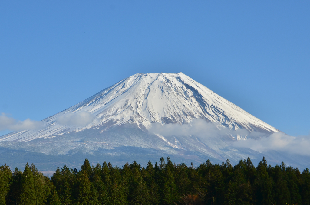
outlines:
[[[198,167],[173,164],[168,157],[141,167],[135,161],[122,168],[104,162],[81,169],[57,168],[49,178],[33,164],[24,171],[0,167],[0,205],[83,204],[83,205],[286,205],[310,204],[309,169],[258,166],[250,158],[232,166],[212,164]]]

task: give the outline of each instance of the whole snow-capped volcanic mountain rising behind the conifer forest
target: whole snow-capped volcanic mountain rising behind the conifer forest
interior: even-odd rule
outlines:
[[[168,155],[196,164],[247,157],[259,161],[263,155],[271,163],[296,162],[281,153],[233,146],[257,137],[253,133],[281,131],[183,73],[135,74],[41,122],[37,129],[0,137],[3,159],[19,153],[16,164],[37,160],[44,169],[79,164],[85,156],[116,164],[145,164]]]

